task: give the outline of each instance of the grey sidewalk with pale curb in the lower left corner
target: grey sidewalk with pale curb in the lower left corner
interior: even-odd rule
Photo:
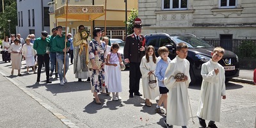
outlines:
[[[0,70],[0,127],[67,127]]]

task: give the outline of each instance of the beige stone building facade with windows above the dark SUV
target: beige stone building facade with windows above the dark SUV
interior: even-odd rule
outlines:
[[[255,39],[255,0],[138,0],[143,34],[192,33],[200,38]]]

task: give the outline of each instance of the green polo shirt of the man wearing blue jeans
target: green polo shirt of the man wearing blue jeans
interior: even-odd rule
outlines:
[[[67,42],[66,46],[67,48],[70,47],[70,43]],[[63,49],[65,49],[65,35],[56,35],[52,39],[52,50],[58,53],[63,53]]]

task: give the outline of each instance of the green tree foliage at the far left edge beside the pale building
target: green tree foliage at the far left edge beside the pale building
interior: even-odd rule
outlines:
[[[4,35],[9,35],[9,22],[8,20],[11,20],[10,22],[10,32],[12,34],[16,33],[16,26],[17,26],[17,2],[16,0],[4,0],[4,12],[3,12],[3,5],[1,2],[0,7],[0,33],[1,38],[3,38]]]

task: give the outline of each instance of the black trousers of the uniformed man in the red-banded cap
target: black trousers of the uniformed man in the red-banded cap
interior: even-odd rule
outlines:
[[[138,93],[140,90],[140,63],[129,63],[130,70],[129,70],[129,93]]]

